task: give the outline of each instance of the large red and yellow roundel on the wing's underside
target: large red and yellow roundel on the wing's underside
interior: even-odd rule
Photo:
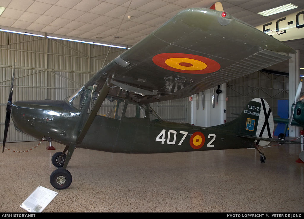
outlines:
[[[212,59],[185,53],[161,53],[154,56],[152,61],[164,69],[190,74],[216,72],[221,67]]]

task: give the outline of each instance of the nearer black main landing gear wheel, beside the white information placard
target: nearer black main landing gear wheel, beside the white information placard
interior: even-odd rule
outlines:
[[[55,189],[66,189],[72,183],[72,175],[68,170],[59,168],[51,174],[50,183]]]

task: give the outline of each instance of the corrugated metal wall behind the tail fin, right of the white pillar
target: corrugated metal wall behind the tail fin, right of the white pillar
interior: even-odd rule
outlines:
[[[273,116],[278,115],[278,100],[289,99],[289,77],[264,73],[252,73],[226,84],[226,122],[240,114],[254,98],[264,98],[271,107]]]

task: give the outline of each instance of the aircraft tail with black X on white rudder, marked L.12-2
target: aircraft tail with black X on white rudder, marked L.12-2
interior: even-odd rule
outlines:
[[[255,98],[247,103],[237,119],[222,127],[237,132],[237,136],[255,139],[259,146],[265,146],[269,144],[267,140],[272,139],[274,122],[268,103],[262,98]]]

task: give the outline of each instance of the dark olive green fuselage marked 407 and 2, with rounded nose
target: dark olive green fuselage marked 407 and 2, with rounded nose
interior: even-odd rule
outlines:
[[[125,100],[126,103],[133,101]],[[136,103],[133,103],[136,104]],[[97,115],[78,148],[117,153],[167,153],[254,147],[253,140],[238,137],[237,120],[203,128],[190,124],[150,120],[146,105],[143,118],[127,117],[124,105],[119,119]],[[17,130],[37,139],[70,145],[89,113],[81,112],[67,101],[16,101],[12,120]],[[225,130],[224,130],[225,126]],[[245,124],[244,124],[245,126]]]

